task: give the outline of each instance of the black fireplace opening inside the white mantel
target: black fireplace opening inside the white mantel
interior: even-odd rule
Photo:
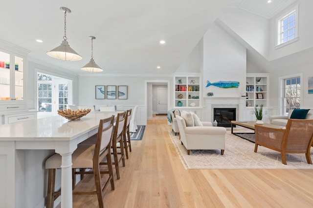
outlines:
[[[236,108],[214,108],[213,121],[217,121],[217,126],[231,127],[231,121],[236,120]]]

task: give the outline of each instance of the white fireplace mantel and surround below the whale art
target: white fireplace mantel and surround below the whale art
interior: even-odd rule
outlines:
[[[237,120],[246,118],[246,97],[204,97],[207,118],[213,122],[213,108],[236,108]]]

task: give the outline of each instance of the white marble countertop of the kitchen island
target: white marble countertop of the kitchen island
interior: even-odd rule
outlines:
[[[90,112],[79,120],[61,115],[0,125],[0,141],[69,141],[97,129],[99,120],[117,112]]]

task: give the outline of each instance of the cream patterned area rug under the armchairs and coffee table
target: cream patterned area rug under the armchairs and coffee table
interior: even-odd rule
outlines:
[[[259,146],[254,152],[254,143],[227,131],[225,151],[192,150],[187,154],[179,136],[169,132],[181,163],[185,169],[313,169],[307,163],[305,154],[287,154],[287,165],[282,164],[280,152]],[[313,150],[311,148],[311,158]]]

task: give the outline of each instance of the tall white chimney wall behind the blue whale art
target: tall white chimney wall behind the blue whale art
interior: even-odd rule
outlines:
[[[239,81],[239,88],[205,87],[207,80]],[[246,48],[214,24],[203,36],[203,96],[238,97],[246,87]]]

